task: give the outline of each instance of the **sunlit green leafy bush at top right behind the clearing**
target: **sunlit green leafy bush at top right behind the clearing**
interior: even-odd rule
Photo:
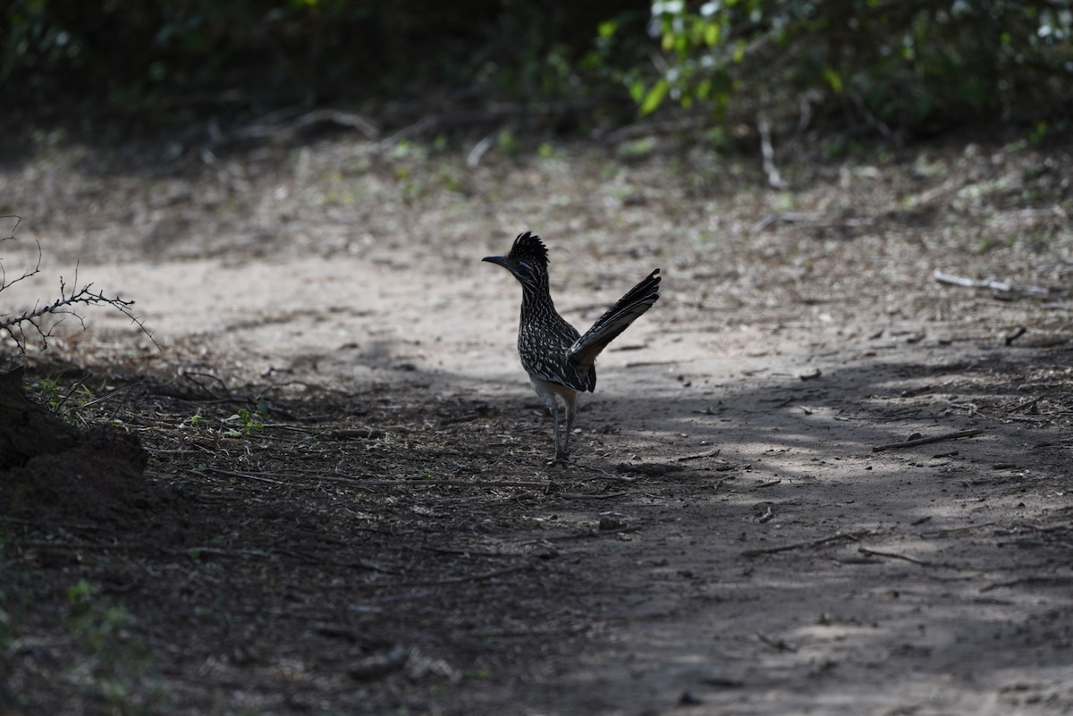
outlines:
[[[667,98],[723,114],[812,92],[876,125],[927,130],[1058,113],[1073,89],[1069,0],[665,0],[652,23],[666,64],[631,87],[642,114]]]

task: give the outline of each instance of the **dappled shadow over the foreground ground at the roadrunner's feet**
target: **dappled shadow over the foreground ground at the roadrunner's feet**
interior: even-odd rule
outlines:
[[[1069,349],[907,350],[710,387],[613,368],[554,466],[515,378],[115,376],[101,409],[167,499],[8,503],[9,688],[57,713],[1059,713]],[[232,417],[259,396],[263,427]]]

